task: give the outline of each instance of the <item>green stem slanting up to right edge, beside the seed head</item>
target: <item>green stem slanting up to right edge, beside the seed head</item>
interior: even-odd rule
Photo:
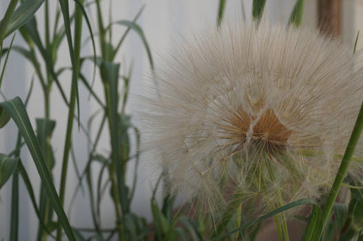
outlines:
[[[331,210],[333,209],[335,199],[338,196],[340,187],[342,187],[342,182],[344,177],[346,176],[346,171],[348,171],[349,164],[351,163],[351,159],[353,157],[355,147],[357,146],[358,140],[360,139],[360,134],[362,133],[363,129],[363,103],[360,107],[360,112],[357,116],[357,121],[355,121],[354,129],[351,134],[351,138],[349,139],[348,146],[346,147],[342,163],[340,163],[340,167],[338,170],[337,176],[335,176],[335,180],[333,182],[333,186],[331,187],[331,191],[328,196],[328,200],[324,205],[323,210],[323,229],[326,225],[326,222],[329,219]],[[320,234],[321,235],[321,234]]]

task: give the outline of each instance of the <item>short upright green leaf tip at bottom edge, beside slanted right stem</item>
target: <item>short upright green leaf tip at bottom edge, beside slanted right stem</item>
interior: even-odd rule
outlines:
[[[318,205],[313,205],[311,210],[310,218],[307,223],[307,228],[304,231],[304,241],[315,241],[319,240],[320,234],[322,233],[322,210]]]

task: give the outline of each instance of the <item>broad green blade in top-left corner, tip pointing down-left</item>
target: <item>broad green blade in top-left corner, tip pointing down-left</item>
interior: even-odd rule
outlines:
[[[6,31],[6,36],[28,23],[30,19],[34,16],[35,12],[41,7],[44,0],[27,0],[21,3],[21,6],[15,10],[12,14],[10,24],[8,25],[8,30]]]

